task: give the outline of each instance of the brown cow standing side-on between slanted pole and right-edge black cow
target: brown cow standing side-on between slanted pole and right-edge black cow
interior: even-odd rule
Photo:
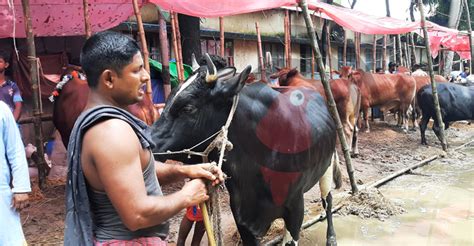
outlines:
[[[391,109],[399,111],[398,125],[408,130],[407,111],[415,97],[416,82],[406,74],[372,74],[361,69],[352,71],[351,67],[343,66],[339,72],[342,78],[350,78],[361,91],[361,108],[364,113],[366,131],[370,131],[369,107],[381,106],[381,111]]]

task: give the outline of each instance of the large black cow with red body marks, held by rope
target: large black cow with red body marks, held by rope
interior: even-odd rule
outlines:
[[[243,244],[258,245],[257,238],[265,235],[277,218],[284,219],[292,240],[297,241],[304,215],[303,193],[320,179],[328,215],[327,241],[335,244],[329,189],[333,172],[339,169],[337,165],[329,168],[336,128],[326,104],[313,90],[279,92],[261,82],[245,85],[250,70],[248,66],[235,75],[235,68],[224,68],[217,76],[212,75],[215,67],[209,58],[207,66],[199,67],[175,89],[152,126],[157,144],[154,152],[188,149],[218,132],[226,122],[233,97],[240,92],[228,133],[233,149],[222,168],[230,177],[226,186]],[[209,142],[195,151],[203,151]],[[216,156],[217,151],[210,159],[217,160]],[[201,161],[184,154],[157,158]],[[333,178],[336,187],[340,186],[340,173]]]

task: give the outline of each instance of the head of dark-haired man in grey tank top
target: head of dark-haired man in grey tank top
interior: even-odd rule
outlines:
[[[116,32],[90,37],[82,48],[81,64],[89,87],[118,106],[140,101],[150,79],[137,42]]]

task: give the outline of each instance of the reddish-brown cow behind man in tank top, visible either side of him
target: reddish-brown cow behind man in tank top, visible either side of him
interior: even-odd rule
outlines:
[[[66,148],[74,123],[86,106],[89,97],[89,86],[86,80],[79,78],[79,72],[69,69],[64,76],[67,75],[69,75],[69,79],[62,86],[60,92],[53,92],[55,96],[53,123],[61,134]],[[159,118],[158,111],[148,96],[143,97],[141,102],[128,106],[127,110],[148,125],[152,125]]]

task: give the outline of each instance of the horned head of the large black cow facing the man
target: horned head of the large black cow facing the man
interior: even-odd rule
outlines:
[[[152,126],[157,147],[154,152],[179,151],[207,139],[225,124],[234,95],[245,85],[251,67],[240,74],[226,67],[219,71],[207,56],[207,65],[200,66],[181,86],[174,89],[160,119]],[[203,151],[210,141],[195,151]],[[157,156],[160,160],[175,159],[186,163],[186,155]]]

